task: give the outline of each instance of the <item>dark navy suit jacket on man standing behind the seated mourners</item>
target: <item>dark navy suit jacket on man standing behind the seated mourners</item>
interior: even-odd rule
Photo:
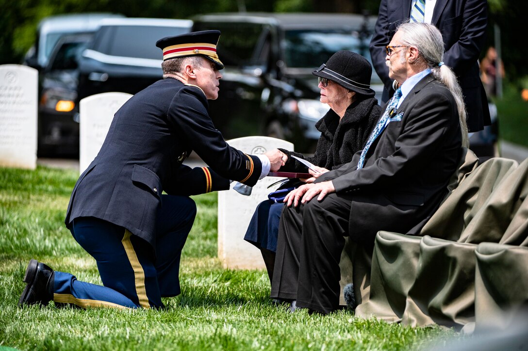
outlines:
[[[370,53],[374,69],[385,85],[383,101],[394,93],[385,65],[385,46],[389,45],[396,27],[409,19],[411,4],[411,0],[381,0]],[[462,88],[470,132],[491,124],[478,67],[478,57],[486,40],[487,21],[486,0],[438,0],[431,20],[444,38],[444,63],[455,72]]]

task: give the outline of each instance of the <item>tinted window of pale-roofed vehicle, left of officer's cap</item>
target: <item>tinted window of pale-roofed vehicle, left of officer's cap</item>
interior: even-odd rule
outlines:
[[[166,36],[186,33],[187,28],[161,26],[117,26],[105,54],[112,56],[152,58],[161,60],[162,54],[155,43]]]

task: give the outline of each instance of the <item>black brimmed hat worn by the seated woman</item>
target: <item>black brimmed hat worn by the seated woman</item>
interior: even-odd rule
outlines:
[[[374,96],[370,89],[372,65],[365,57],[352,51],[338,51],[312,74],[326,78],[342,87],[365,96]]]

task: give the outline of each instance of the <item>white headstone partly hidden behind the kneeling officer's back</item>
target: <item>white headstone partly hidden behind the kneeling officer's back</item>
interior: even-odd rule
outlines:
[[[132,95],[127,93],[101,93],[80,101],[79,169],[81,173],[99,153],[114,114],[131,97]]]

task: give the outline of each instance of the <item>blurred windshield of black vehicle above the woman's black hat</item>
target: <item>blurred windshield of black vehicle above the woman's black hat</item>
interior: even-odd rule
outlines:
[[[362,40],[357,32],[290,30],[285,33],[285,61],[290,68],[318,67],[340,50],[354,51],[370,61],[368,41]]]

